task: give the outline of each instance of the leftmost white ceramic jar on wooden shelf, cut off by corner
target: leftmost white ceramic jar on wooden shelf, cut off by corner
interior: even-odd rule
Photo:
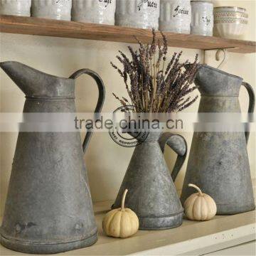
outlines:
[[[0,0],[1,15],[30,16],[31,0]]]

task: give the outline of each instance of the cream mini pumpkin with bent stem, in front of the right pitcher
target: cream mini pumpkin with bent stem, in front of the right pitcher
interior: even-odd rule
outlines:
[[[193,193],[184,203],[186,217],[189,220],[210,220],[217,213],[217,206],[213,198],[206,193],[202,193],[198,186],[188,184],[198,190],[198,193]]]

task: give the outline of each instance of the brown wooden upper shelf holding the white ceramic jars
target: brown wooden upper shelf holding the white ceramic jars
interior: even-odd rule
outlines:
[[[151,40],[151,31],[140,28],[80,23],[73,21],[56,21],[46,18],[22,16],[0,16],[0,31],[36,36],[57,36],[64,38],[82,38],[98,41],[136,43],[134,36],[143,42]],[[227,48],[234,53],[255,53],[254,41],[240,41],[214,36],[196,36],[179,33],[165,33],[169,46],[213,50]],[[157,33],[160,37],[160,33]]]

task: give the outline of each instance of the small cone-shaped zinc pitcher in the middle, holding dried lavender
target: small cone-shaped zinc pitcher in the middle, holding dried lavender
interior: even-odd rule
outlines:
[[[171,174],[164,159],[165,144],[178,154]],[[139,229],[161,230],[181,225],[183,208],[174,181],[185,159],[183,137],[169,132],[149,132],[146,140],[134,149],[112,208],[121,206],[122,194],[127,188],[125,206],[137,214]]]

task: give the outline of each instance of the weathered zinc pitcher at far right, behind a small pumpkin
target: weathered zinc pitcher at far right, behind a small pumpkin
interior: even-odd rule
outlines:
[[[238,95],[244,85],[253,112],[255,95],[242,78],[202,65],[195,80],[201,92],[198,112],[240,112]],[[183,203],[199,186],[217,204],[217,214],[228,215],[255,209],[247,155],[248,132],[195,132],[181,193]]]

